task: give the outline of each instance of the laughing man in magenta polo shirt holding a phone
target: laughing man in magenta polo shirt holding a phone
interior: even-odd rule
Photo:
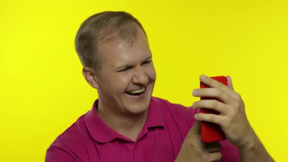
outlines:
[[[99,99],[51,144],[46,162],[273,162],[230,77],[225,86],[202,75],[212,88],[195,89],[193,96],[220,101],[197,101],[193,108],[152,97],[152,54],[144,28],[132,15],[91,16],[75,45],[83,76]],[[197,113],[199,108],[220,114]],[[227,140],[203,143],[199,121],[219,124]]]

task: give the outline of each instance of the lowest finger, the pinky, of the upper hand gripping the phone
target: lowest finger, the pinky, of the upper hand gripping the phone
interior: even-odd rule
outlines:
[[[218,125],[224,125],[227,122],[227,119],[225,116],[220,116],[216,114],[197,113],[195,114],[194,117],[198,121],[208,121],[208,122],[216,123]]]

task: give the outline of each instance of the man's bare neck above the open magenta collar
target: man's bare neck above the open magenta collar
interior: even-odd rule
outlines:
[[[136,141],[147,118],[148,110],[140,114],[120,112],[116,107],[105,106],[100,101],[97,108],[101,119],[117,133]]]

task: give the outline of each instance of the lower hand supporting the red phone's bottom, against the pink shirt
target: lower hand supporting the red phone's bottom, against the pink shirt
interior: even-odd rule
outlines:
[[[175,162],[218,162],[222,155],[219,142],[201,141],[200,121],[196,121],[188,132]]]

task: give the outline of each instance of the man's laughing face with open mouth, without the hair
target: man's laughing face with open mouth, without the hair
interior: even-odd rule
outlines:
[[[135,114],[149,106],[156,72],[147,39],[141,29],[137,33],[133,44],[122,41],[98,46],[102,57],[98,94],[104,108]]]

